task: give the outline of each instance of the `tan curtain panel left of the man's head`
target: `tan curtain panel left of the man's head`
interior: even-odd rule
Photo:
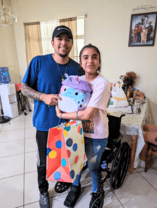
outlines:
[[[42,55],[40,22],[24,23],[27,65],[34,56]]]

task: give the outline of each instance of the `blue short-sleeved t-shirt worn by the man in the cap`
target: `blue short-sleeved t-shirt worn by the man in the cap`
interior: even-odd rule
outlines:
[[[22,82],[38,92],[58,94],[61,88],[61,74],[64,75],[67,65],[58,64],[58,66],[60,72],[52,54],[36,56],[30,62]],[[69,59],[66,73],[79,75],[78,71],[79,64]],[[37,130],[48,131],[49,128],[57,126],[58,122],[54,105],[48,107],[44,102],[34,100],[33,126]]]

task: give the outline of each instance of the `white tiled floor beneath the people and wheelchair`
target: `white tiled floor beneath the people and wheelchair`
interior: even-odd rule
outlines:
[[[21,114],[9,123],[0,124],[0,208],[39,208],[35,133],[32,113],[27,116]],[[107,180],[104,183],[103,208],[157,208],[155,167],[156,158],[147,173],[140,167],[132,175],[128,173],[118,190],[112,190]],[[57,194],[55,182],[49,182],[49,185],[51,207],[64,208],[68,191]],[[75,207],[88,208],[92,191],[88,169],[81,185],[82,194]]]

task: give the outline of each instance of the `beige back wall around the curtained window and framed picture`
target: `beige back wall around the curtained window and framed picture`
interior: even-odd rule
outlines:
[[[157,124],[157,41],[154,47],[128,47],[130,17],[141,5],[157,6],[156,0],[12,0],[18,23],[15,39],[20,74],[27,64],[24,22],[53,20],[87,14],[85,44],[95,44],[102,53],[102,74],[110,82],[127,71],[138,75],[135,87],[150,100],[151,123]]]

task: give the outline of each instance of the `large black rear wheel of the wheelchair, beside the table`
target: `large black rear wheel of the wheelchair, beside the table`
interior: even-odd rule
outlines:
[[[123,142],[112,164],[110,185],[113,189],[120,188],[125,179],[130,162],[130,154],[130,146],[127,142]]]

